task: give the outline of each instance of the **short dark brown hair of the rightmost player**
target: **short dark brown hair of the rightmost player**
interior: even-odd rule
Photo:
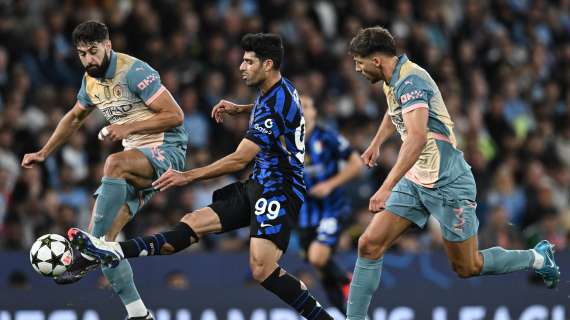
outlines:
[[[375,52],[396,55],[394,37],[385,28],[376,26],[360,29],[350,40],[348,52],[352,55],[367,57]]]

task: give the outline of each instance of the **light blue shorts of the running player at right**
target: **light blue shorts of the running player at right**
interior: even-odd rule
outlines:
[[[477,189],[468,171],[440,188],[426,188],[402,178],[392,189],[386,211],[424,228],[430,215],[441,226],[443,238],[461,242],[477,234],[479,220],[475,214]]]

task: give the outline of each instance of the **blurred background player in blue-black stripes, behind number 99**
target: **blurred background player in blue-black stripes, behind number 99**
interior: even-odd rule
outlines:
[[[305,259],[319,271],[329,301],[345,312],[350,277],[332,255],[351,213],[344,185],[359,174],[363,163],[342,135],[317,124],[311,97],[301,95],[301,105],[306,121],[304,179],[308,194],[297,232]]]

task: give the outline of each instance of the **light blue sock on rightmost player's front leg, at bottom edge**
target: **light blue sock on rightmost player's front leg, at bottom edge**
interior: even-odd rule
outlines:
[[[380,284],[383,258],[370,260],[362,257],[356,259],[354,273],[350,283],[350,293],[346,308],[347,320],[364,320],[372,295]]]

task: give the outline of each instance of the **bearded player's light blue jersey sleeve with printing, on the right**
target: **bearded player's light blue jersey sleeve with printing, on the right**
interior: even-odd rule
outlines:
[[[166,88],[160,75],[147,63],[137,60],[127,73],[129,90],[139,96],[146,105],[151,104]]]

